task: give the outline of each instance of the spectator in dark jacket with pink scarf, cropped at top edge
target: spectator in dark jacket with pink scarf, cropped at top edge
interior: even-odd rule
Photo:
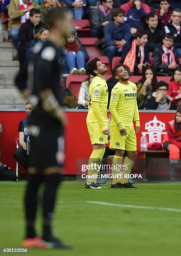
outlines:
[[[104,26],[111,21],[113,0],[100,0],[99,7],[92,15],[91,36],[97,38],[104,37]]]

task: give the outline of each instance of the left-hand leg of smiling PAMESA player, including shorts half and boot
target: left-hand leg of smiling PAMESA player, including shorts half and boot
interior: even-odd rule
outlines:
[[[118,126],[110,127],[110,148],[115,150],[112,160],[111,188],[124,188],[121,185],[121,164],[124,155],[126,136],[121,136]]]

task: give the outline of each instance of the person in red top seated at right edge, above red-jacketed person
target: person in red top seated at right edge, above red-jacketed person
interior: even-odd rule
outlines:
[[[177,68],[174,72],[174,76],[169,83],[169,90],[167,93],[175,102],[176,107],[179,101],[181,101],[181,68]]]

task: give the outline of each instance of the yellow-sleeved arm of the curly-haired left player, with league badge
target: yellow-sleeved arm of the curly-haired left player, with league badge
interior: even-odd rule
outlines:
[[[97,87],[97,84],[95,84],[95,86],[93,87],[92,90],[92,110],[94,111],[94,114],[97,118],[97,121],[99,122],[102,131],[107,130],[107,123],[105,122],[104,118],[102,118],[102,114],[99,108],[99,104],[101,101],[101,95],[102,95],[102,86],[99,85],[99,87]],[[107,132],[105,133],[107,134]]]

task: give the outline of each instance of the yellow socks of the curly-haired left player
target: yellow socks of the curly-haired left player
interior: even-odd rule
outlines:
[[[105,151],[105,149],[104,149]],[[97,174],[98,174],[98,166],[97,164],[101,164],[102,157],[104,155],[104,151],[102,149],[94,149],[89,158],[89,165],[92,165],[92,169],[88,170],[87,175],[91,175],[92,177],[87,177],[87,185],[91,184],[91,182],[97,182]],[[95,166],[96,164],[96,166]]]

